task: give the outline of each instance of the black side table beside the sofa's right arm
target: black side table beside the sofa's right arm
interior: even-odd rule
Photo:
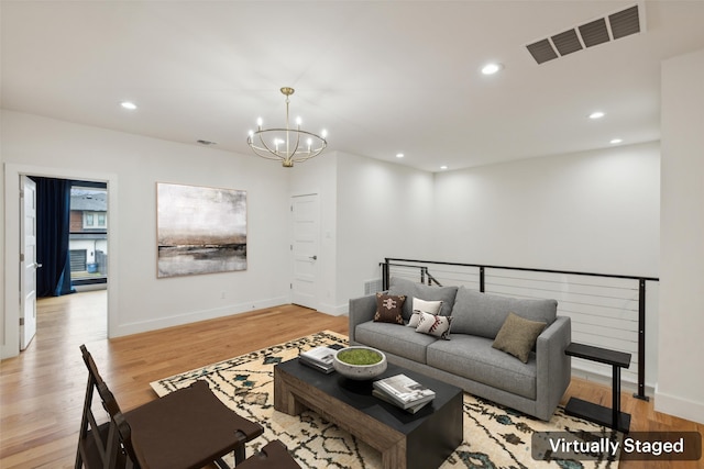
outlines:
[[[564,407],[564,412],[568,415],[586,418],[597,424],[628,433],[630,428],[630,414],[620,412],[620,369],[630,366],[630,354],[575,343],[570,344],[564,349],[564,354],[610,365],[613,369],[612,409],[571,398]]]

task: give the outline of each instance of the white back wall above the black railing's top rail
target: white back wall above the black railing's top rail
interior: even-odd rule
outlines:
[[[657,277],[659,145],[436,175],[438,260]]]

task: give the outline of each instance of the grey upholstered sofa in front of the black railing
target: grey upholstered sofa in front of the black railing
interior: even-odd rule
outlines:
[[[377,348],[394,364],[550,420],[571,377],[571,360],[564,355],[571,340],[571,323],[570,317],[557,315],[557,301],[492,295],[465,287],[428,287],[399,278],[392,278],[384,294],[405,297],[400,311],[403,324],[381,322],[378,316],[374,320],[376,295],[352,299],[350,344]],[[442,301],[439,315],[452,317],[449,339],[418,333],[408,326],[414,299],[436,304]],[[529,320],[531,325],[544,323],[544,330],[537,339],[534,337],[535,346],[529,353],[525,351],[527,362],[493,347],[499,332],[502,340],[506,337],[508,324],[504,326],[509,322],[510,312]],[[398,320],[400,322],[400,317]],[[520,335],[522,325],[517,332]]]

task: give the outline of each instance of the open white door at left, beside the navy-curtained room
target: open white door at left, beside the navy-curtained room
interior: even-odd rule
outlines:
[[[36,185],[21,176],[20,186],[20,350],[36,334]]]

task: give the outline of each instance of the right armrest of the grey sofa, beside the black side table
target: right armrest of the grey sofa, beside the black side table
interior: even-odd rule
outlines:
[[[538,336],[536,343],[537,412],[542,415],[542,418],[550,418],[570,386],[572,360],[564,355],[564,349],[571,342],[572,322],[568,316],[558,316]]]

